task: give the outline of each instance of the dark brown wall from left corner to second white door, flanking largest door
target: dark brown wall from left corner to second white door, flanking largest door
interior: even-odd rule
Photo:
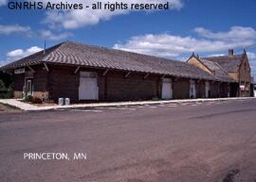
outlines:
[[[59,97],[69,97],[72,102],[79,101],[80,74],[74,74],[76,67],[49,66],[49,98],[57,101]],[[131,73],[124,77],[123,72],[81,69],[82,72],[98,73],[99,99],[101,101],[148,100],[157,97],[157,79],[159,76]]]

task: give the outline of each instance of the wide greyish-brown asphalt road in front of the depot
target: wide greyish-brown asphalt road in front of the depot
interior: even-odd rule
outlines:
[[[256,100],[1,112],[0,181],[255,182]]]

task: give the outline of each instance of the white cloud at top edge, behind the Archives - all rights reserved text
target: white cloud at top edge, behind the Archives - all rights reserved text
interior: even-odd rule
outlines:
[[[60,3],[61,0],[51,0],[51,2]],[[49,25],[51,28],[56,27],[64,27],[66,29],[74,29],[79,28],[86,25],[96,25],[100,21],[105,21],[111,19],[113,16],[126,14],[131,11],[131,9],[121,10],[117,9],[114,11],[110,10],[95,10],[92,8],[85,8],[86,5],[91,6],[93,3],[96,3],[94,0],[88,0],[86,1],[86,4],[84,3],[84,0],[76,0],[71,1],[67,0],[66,2],[69,3],[82,3],[83,9],[80,10],[63,10],[63,11],[47,11],[46,12],[46,20],[44,23]],[[166,3],[169,2],[170,9],[180,9],[183,7],[182,0],[116,0],[116,1],[110,1],[110,0],[101,0],[102,4],[104,3],[126,3],[128,5],[131,5],[132,3]]]

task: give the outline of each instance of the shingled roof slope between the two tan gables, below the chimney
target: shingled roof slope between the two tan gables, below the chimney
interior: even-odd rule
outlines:
[[[217,62],[227,72],[237,72],[244,56],[245,53],[242,55],[208,57],[202,59]]]

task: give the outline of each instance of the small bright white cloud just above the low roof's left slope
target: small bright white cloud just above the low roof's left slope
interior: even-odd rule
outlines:
[[[15,49],[13,51],[10,51],[7,54],[7,60],[8,61],[17,60],[17,59],[27,57],[29,55],[32,55],[32,54],[37,53],[37,52],[42,51],[42,50],[43,49],[41,47],[38,47],[38,46],[32,46],[32,47],[27,48],[25,50],[24,49]]]

